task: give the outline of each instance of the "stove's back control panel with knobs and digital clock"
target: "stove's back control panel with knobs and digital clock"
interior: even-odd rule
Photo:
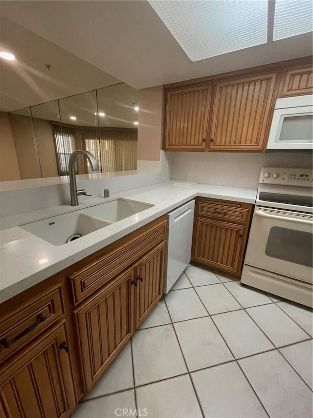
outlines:
[[[312,187],[312,170],[263,167],[260,183]]]

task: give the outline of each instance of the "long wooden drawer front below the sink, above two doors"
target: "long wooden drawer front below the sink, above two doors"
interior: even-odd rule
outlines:
[[[130,240],[109,251],[104,256],[87,264],[69,276],[72,283],[74,303],[109,282],[114,276],[128,268],[142,255],[166,238],[166,223],[162,221],[154,227],[145,229]]]

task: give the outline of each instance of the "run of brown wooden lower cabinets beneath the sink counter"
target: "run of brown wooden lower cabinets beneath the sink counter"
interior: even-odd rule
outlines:
[[[0,418],[67,418],[162,296],[166,216],[0,304]]]

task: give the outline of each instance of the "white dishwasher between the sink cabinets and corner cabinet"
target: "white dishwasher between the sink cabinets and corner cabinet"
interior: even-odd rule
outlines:
[[[168,293],[191,260],[195,200],[185,203],[167,215],[168,259],[164,293]]]

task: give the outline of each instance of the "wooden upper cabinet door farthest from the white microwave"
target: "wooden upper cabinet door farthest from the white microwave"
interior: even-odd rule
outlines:
[[[204,150],[212,84],[166,91],[164,149]]]

